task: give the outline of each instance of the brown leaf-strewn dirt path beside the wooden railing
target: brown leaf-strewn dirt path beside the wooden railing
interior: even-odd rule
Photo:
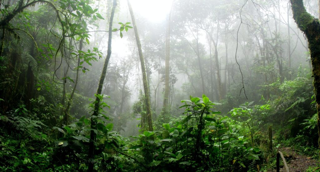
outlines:
[[[312,159],[309,156],[301,155],[297,153],[291,147],[284,147],[279,149],[286,159],[290,172],[305,172],[309,167],[317,167],[317,160]],[[280,171],[285,171],[284,166],[281,166],[282,159],[280,158]],[[275,172],[276,169],[270,169],[269,172]],[[320,171],[319,168],[316,168],[315,171]]]

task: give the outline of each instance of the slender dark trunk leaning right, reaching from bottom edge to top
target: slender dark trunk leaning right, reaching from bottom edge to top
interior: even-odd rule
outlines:
[[[113,6],[112,6],[112,9],[111,9],[111,15],[110,15],[110,21],[109,21],[109,32],[108,32],[109,37],[108,37],[107,57],[106,57],[106,60],[104,61],[103,69],[102,69],[102,72],[101,72],[97,94],[101,94],[101,92],[102,92],[102,86],[103,86],[104,78],[106,78],[107,67],[108,67],[110,56],[111,56],[112,22],[113,22],[113,16],[115,15],[116,6],[117,6],[117,1],[113,0]],[[94,133],[93,129],[97,129],[97,124],[92,119],[92,117],[98,116],[98,114],[99,114],[99,108],[100,108],[99,107],[99,102],[100,102],[99,98],[96,97],[96,101],[94,103],[93,114],[91,115],[91,125],[90,125],[90,127],[91,127],[92,130],[90,131],[88,172],[92,172],[93,171],[93,166],[94,166],[94,150],[95,150],[94,143],[96,141],[96,133]]]

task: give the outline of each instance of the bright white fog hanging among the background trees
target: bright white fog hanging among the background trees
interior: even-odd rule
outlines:
[[[89,25],[90,31],[108,29],[111,4],[95,1],[93,6],[105,20],[98,21],[99,27]],[[317,4],[306,4],[308,12],[318,16]],[[259,102],[261,96],[268,99],[266,92],[270,90],[261,91],[263,86],[289,80],[297,75],[300,66],[308,69],[310,65],[307,41],[292,19],[288,1],[141,0],[132,1],[132,9],[146,61],[154,119],[163,107],[165,36],[170,11],[169,104],[174,115],[181,115],[180,100],[190,95],[206,94],[213,102],[228,101],[234,106]],[[119,22],[132,22],[125,0],[118,2],[112,27],[119,28]],[[108,33],[97,31],[90,35],[90,45],[85,45],[84,50],[97,47],[103,55],[92,66],[83,65],[88,71],[81,73],[76,93],[87,97],[95,93],[108,45]],[[114,32],[102,94],[110,96],[106,100],[111,106],[108,115],[115,125],[121,125],[119,129],[127,126],[126,130],[139,130],[135,126],[140,117],[132,106],[143,93],[140,68],[134,29],[123,31],[122,38]],[[125,108],[119,112],[121,102]],[[231,107],[222,105],[218,109],[228,112]],[[82,115],[79,112],[78,116]]]

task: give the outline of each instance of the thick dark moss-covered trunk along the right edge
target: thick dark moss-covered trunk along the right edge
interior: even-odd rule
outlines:
[[[309,14],[303,6],[302,0],[290,0],[293,19],[299,29],[308,38],[308,47],[312,64],[312,76],[314,77],[313,86],[316,95],[318,112],[318,134],[320,135],[320,23],[315,17]],[[320,137],[318,140],[320,153]]]

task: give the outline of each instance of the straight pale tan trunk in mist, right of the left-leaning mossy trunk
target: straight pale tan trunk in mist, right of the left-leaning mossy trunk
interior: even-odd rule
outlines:
[[[173,3],[173,2],[172,2]],[[167,33],[165,37],[165,88],[164,88],[164,101],[163,101],[163,111],[164,113],[167,113],[168,111],[168,104],[169,104],[169,93],[170,93],[170,84],[169,84],[169,75],[170,75],[170,17],[171,17],[171,10],[168,15],[168,21],[167,21]]]

